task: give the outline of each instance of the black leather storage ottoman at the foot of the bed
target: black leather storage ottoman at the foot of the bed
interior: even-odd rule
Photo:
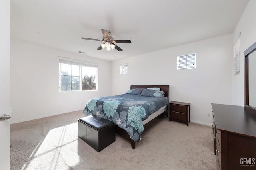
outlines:
[[[78,120],[78,137],[100,152],[116,141],[115,124],[96,115]]]

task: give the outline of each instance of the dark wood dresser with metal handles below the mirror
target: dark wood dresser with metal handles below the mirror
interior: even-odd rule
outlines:
[[[256,115],[212,103],[214,154],[221,170],[256,170]]]

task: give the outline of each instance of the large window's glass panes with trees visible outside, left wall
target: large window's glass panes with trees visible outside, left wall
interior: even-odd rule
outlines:
[[[98,68],[60,63],[60,91],[96,90]]]

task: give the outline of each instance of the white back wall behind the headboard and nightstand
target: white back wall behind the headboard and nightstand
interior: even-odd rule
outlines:
[[[197,68],[176,69],[176,57],[196,52]],[[191,103],[190,121],[210,125],[211,103],[232,103],[232,34],[188,43],[112,63],[112,95],[131,84],[170,85],[169,101]],[[128,63],[128,75],[120,64]]]

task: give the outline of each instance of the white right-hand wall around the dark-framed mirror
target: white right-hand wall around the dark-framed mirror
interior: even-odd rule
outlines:
[[[241,32],[240,74],[232,77],[232,104],[244,106],[244,51],[256,42],[256,0],[250,0],[234,32],[233,42]]]

